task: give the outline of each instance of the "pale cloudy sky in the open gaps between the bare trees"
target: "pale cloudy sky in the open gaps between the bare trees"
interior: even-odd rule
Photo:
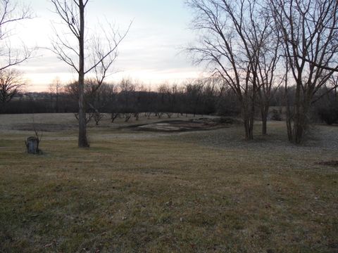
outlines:
[[[61,22],[51,2],[26,0],[25,4],[30,4],[35,18],[16,25],[15,38],[39,48],[34,58],[20,65],[30,80],[28,89],[47,90],[56,77],[63,83],[76,79],[71,67],[46,49],[51,48],[51,40],[55,39],[53,24],[59,29],[57,24]],[[123,33],[132,22],[118,48],[108,82],[131,78],[152,87],[201,76],[201,67],[193,65],[183,50],[196,39],[189,30],[192,13],[184,0],[89,0],[85,17],[88,37],[98,31],[100,24],[111,23]]]

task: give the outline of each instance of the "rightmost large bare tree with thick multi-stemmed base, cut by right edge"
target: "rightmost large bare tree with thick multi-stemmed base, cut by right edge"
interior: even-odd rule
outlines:
[[[338,56],[337,0],[270,0],[287,61],[287,82],[296,85],[288,105],[289,141],[301,143],[315,94],[334,74]],[[322,66],[325,66],[323,68]]]

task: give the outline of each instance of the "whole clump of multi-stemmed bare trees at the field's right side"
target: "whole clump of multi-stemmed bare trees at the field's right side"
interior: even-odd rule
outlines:
[[[336,0],[188,0],[200,41],[190,46],[236,93],[245,135],[253,138],[256,103],[263,134],[273,87],[284,86],[289,141],[301,143],[316,94],[337,75]],[[330,67],[332,66],[332,67]],[[293,89],[294,88],[294,89]]]

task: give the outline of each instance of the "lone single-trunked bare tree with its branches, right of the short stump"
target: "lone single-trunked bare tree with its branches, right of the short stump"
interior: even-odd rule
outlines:
[[[72,38],[64,37],[61,32],[56,32],[56,41],[54,41],[52,51],[78,74],[79,148],[89,147],[84,100],[84,77],[86,74],[94,73],[96,75],[97,89],[99,89],[117,56],[118,45],[123,41],[129,30],[128,28],[124,34],[118,34],[112,26],[110,26],[110,32],[107,32],[102,27],[103,37],[92,37],[92,43],[85,45],[84,33],[86,24],[84,22],[84,13],[88,2],[89,0],[51,0],[56,14],[58,14],[73,36]],[[70,39],[75,39],[74,43]],[[85,49],[88,49],[89,55],[85,53]],[[85,68],[84,60],[87,58],[91,59],[92,62],[89,67]]]

